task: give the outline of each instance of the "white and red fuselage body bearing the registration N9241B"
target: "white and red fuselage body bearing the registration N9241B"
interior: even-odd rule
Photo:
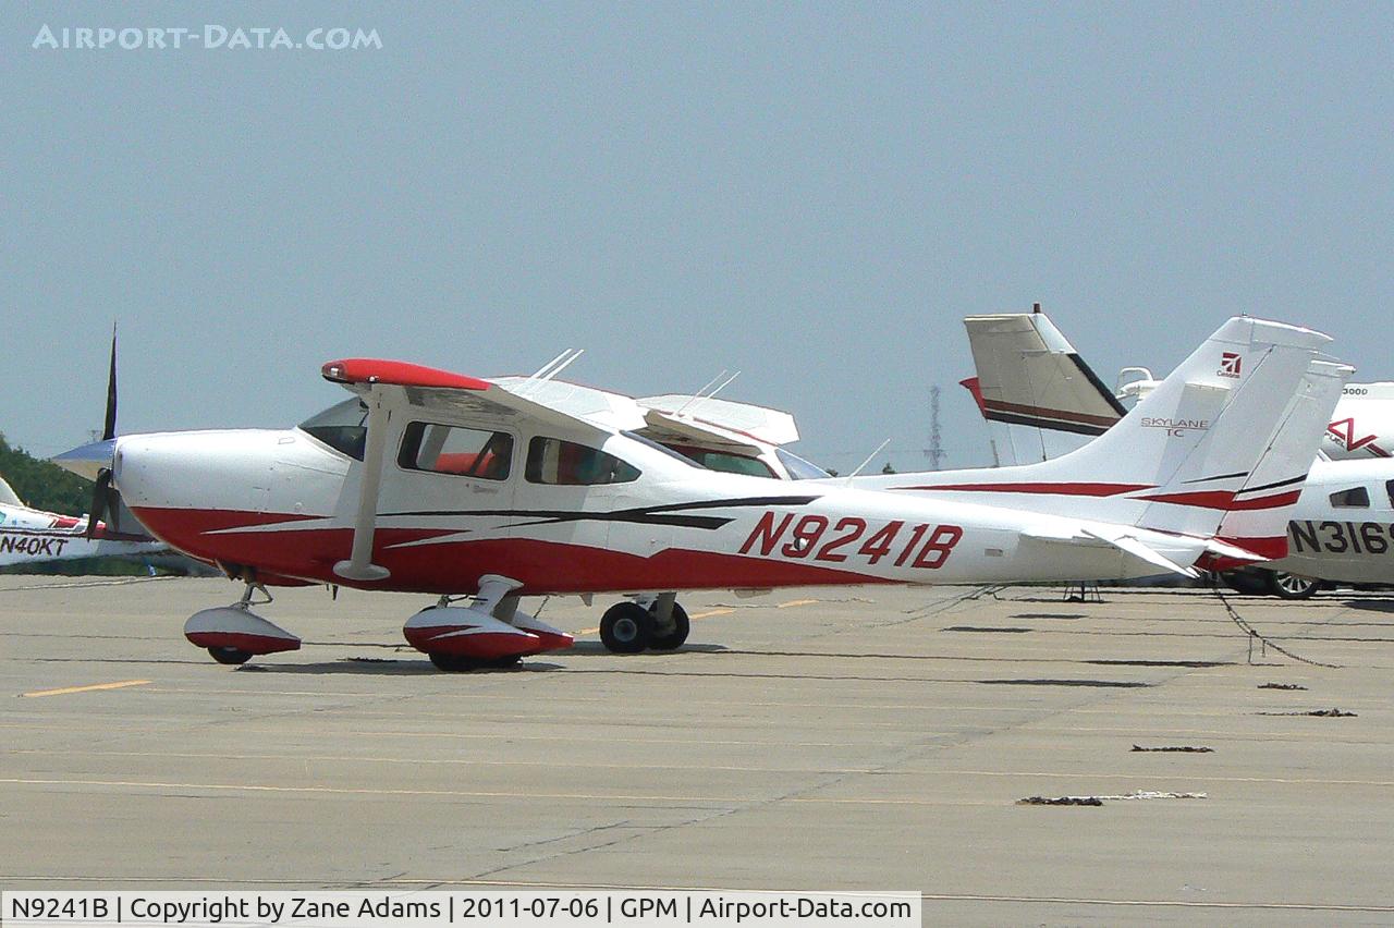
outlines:
[[[390,426],[389,449],[404,425]],[[514,449],[537,438],[517,422],[487,425],[509,431]],[[441,594],[474,589],[485,574],[520,581],[520,594],[563,594],[1156,573],[1104,542],[1033,541],[1071,535],[1078,520],[1061,527],[1016,509],[717,474],[623,435],[602,449],[640,477],[541,485],[517,461],[505,479],[393,461],[374,563],[393,589]],[[351,545],[362,464],[304,431],[125,436],[114,461],[127,504],[174,548],[273,581],[344,582],[333,566]],[[1204,550],[1203,539],[1133,531],[1184,564]]]

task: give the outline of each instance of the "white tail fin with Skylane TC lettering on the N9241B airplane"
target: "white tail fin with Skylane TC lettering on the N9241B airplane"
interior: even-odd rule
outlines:
[[[1040,464],[921,474],[919,486],[901,488],[997,504],[1004,493],[1032,495],[1039,511],[1211,536],[1327,343],[1309,329],[1230,319],[1085,447]],[[1313,457],[1316,442],[1305,453]]]

